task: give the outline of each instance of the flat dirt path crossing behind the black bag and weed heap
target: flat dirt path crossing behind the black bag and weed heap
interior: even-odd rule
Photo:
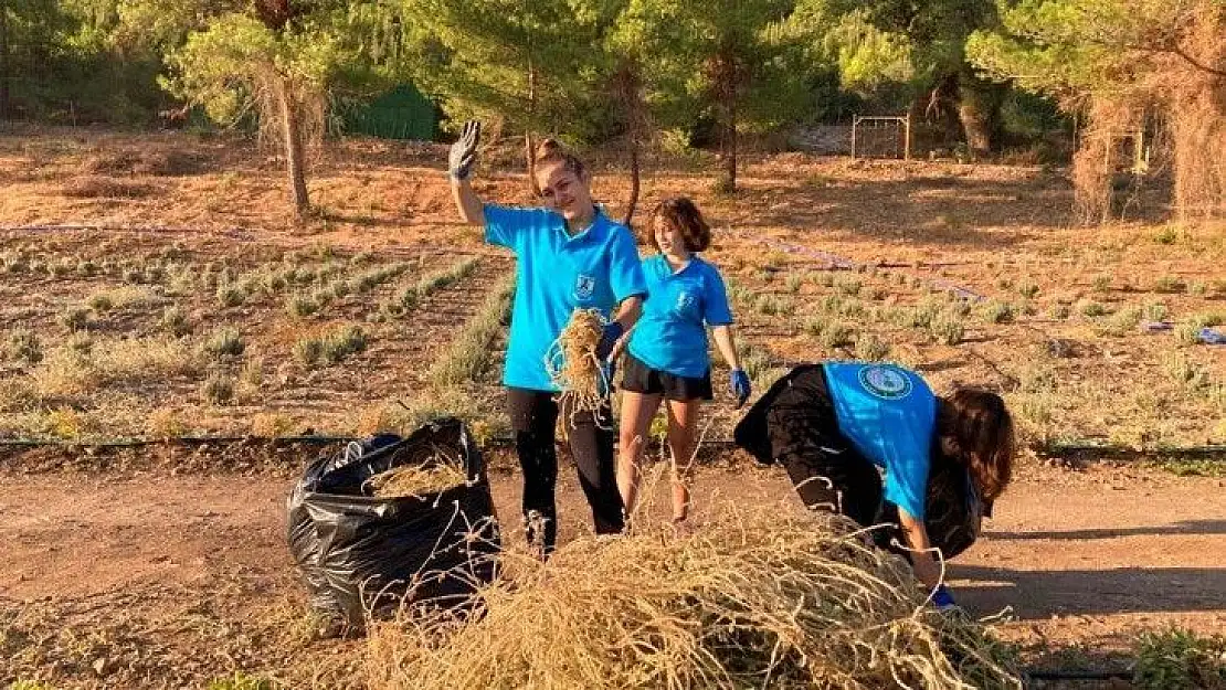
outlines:
[[[493,484],[509,538],[522,538],[519,477],[500,472]],[[146,591],[163,594],[137,608],[190,605],[197,590],[300,602],[283,538],[288,487],[238,476],[0,477],[0,613],[40,601],[97,608]],[[1029,469],[950,580],[976,614],[1011,607],[1016,620],[1002,630],[1031,645],[1122,650],[1138,629],[1170,624],[1226,631],[1224,487],[1121,468]],[[562,494],[565,539],[585,529],[569,472]],[[781,474],[758,468],[705,469],[695,495],[798,510]],[[243,586],[226,594],[218,582]]]

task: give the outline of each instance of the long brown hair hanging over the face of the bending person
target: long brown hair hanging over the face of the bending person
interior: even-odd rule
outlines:
[[[1013,417],[1004,400],[983,389],[959,387],[939,401],[942,450],[966,466],[984,501],[996,500],[1013,479]]]

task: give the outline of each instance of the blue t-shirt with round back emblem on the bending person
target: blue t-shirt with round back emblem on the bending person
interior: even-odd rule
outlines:
[[[893,364],[823,366],[839,430],[885,469],[885,500],[923,520],[937,396],[917,374]]]

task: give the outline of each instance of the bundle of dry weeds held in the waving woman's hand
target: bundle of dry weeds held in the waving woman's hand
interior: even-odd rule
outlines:
[[[549,379],[562,391],[559,402],[571,414],[597,413],[609,386],[596,355],[604,317],[595,309],[576,309],[546,358]],[[560,362],[559,362],[560,358]]]

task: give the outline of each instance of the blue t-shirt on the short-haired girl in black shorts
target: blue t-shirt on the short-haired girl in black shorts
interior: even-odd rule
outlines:
[[[696,254],[673,272],[663,254],[642,261],[647,299],[626,344],[644,364],[674,376],[698,379],[711,370],[705,326],[732,324],[720,271]]]

